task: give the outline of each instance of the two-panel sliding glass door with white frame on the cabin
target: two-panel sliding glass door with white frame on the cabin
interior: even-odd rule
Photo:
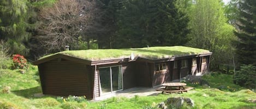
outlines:
[[[99,68],[99,76],[102,93],[123,89],[122,66]]]

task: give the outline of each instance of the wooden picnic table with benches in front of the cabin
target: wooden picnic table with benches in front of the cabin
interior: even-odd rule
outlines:
[[[157,91],[162,91],[163,93],[175,93],[175,92],[187,92],[190,89],[193,89],[193,87],[187,87],[187,84],[182,82],[168,82],[162,84],[162,88],[156,89]]]

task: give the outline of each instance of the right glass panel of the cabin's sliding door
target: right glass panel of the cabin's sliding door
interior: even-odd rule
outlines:
[[[112,91],[123,89],[121,66],[111,67],[112,73]]]

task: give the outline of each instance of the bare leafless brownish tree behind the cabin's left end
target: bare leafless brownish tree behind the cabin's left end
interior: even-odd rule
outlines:
[[[78,49],[79,36],[86,33],[92,21],[95,1],[58,0],[39,11],[40,26],[34,36],[45,53],[60,52],[66,45]],[[41,50],[41,49],[40,49]]]

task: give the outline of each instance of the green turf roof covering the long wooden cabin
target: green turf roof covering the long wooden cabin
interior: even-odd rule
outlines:
[[[144,57],[146,59],[164,59],[172,56],[185,56],[193,54],[211,53],[209,50],[172,46],[172,47],[149,47],[149,48],[129,48],[129,49],[90,49],[90,50],[69,50],[56,54],[64,54],[68,56],[78,57],[80,59],[97,61],[109,59],[129,58],[131,54],[134,56]],[[55,54],[51,54],[55,55]],[[41,59],[51,56],[47,55]]]

